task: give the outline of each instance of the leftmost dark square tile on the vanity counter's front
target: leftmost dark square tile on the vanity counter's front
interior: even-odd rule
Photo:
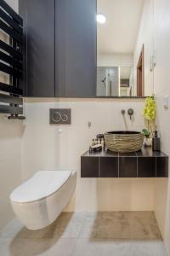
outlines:
[[[99,177],[99,157],[81,158],[81,177]]]

